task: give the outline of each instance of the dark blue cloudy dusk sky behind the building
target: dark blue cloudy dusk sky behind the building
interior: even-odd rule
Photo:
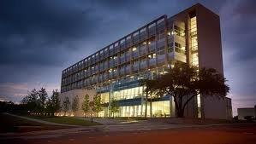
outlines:
[[[254,0],[1,0],[0,99],[60,89],[64,68],[162,14],[202,3],[220,15],[224,74],[236,107],[256,104]]]

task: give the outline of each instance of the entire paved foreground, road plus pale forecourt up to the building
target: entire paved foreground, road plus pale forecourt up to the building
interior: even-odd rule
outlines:
[[[0,135],[0,143],[92,144],[255,144],[256,124],[182,125],[151,121],[106,122],[104,125]]]

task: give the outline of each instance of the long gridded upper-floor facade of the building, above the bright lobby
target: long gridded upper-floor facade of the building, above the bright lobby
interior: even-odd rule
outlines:
[[[63,70],[61,92],[101,87],[122,77],[167,66],[175,60],[174,51],[185,60],[183,41],[185,26],[164,15]]]

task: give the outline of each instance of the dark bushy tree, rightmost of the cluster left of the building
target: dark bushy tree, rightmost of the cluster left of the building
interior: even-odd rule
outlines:
[[[51,116],[53,116],[55,112],[58,112],[61,109],[60,103],[59,93],[57,90],[53,90],[51,98],[46,102],[47,112],[50,112]]]

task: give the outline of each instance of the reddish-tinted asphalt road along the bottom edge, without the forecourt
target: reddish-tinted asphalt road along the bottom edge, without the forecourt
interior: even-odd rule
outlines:
[[[0,139],[0,143],[35,144],[255,144],[256,124],[173,128],[169,130],[85,130],[66,135]]]

